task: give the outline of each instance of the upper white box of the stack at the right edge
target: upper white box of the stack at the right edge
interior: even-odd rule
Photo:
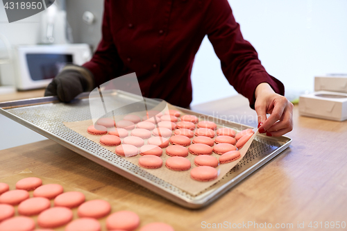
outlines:
[[[347,74],[315,76],[314,92],[318,91],[347,93]]]

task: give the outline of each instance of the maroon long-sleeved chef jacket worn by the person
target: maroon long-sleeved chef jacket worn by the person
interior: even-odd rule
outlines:
[[[102,35],[92,60],[83,65],[92,71],[96,85],[136,72],[143,96],[187,107],[194,57],[208,35],[223,74],[252,108],[260,83],[269,83],[278,94],[285,92],[242,37],[227,0],[105,0]]]

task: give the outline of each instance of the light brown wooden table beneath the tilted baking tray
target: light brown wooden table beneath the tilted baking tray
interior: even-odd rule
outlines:
[[[257,123],[255,112],[240,96],[198,105],[192,110],[215,116],[234,115],[235,121],[244,116],[246,124]],[[176,231],[210,230],[209,223],[224,222],[239,228],[248,223],[249,230],[257,230],[251,222],[259,228],[271,223],[273,227],[287,227],[281,230],[298,230],[298,223],[304,223],[305,230],[335,230],[324,225],[326,221],[347,222],[347,121],[299,117],[295,106],[294,124],[294,130],[288,134],[293,139],[290,148],[200,210],[175,205],[50,140],[0,151],[0,176],[28,168],[39,176],[92,191],[112,203],[126,203],[128,209],[148,214],[143,223],[162,221]],[[315,221],[319,229],[309,228],[310,222],[314,227]]]

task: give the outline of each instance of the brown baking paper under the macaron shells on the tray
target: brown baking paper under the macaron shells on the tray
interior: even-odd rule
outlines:
[[[162,102],[162,103],[164,103],[164,102]],[[160,104],[162,104],[162,103],[160,103]],[[168,105],[168,108],[171,110],[178,110],[181,113],[181,117],[183,115],[185,115],[185,113],[180,111],[174,105],[170,105],[169,103],[167,103],[167,105]],[[164,107],[162,107],[162,105],[158,105],[158,109],[159,108],[164,108]],[[156,110],[156,109],[157,109],[157,107],[153,108],[152,110]],[[146,114],[146,112],[131,112],[130,114],[136,114],[139,117],[142,117],[142,115]],[[110,117],[110,119],[115,119],[115,121],[117,122],[117,121],[120,121],[121,119],[123,119],[124,116],[125,116],[125,114],[124,115],[117,115],[114,117]],[[209,118],[204,118],[204,119],[209,120]],[[200,118],[200,121],[201,120],[202,119]],[[92,119],[85,120],[85,121],[76,121],[76,122],[64,122],[64,125],[67,126],[67,128],[74,130],[78,134],[83,135],[84,137],[87,137],[87,139],[92,140],[96,144],[99,144],[99,140],[100,140],[101,135],[91,135],[90,133],[87,132],[87,128],[89,126],[93,125]],[[223,124],[217,123],[217,129],[218,128],[226,128],[226,127],[227,126],[224,126]],[[130,131],[129,131],[129,135],[130,135]],[[251,137],[251,139],[249,139],[248,142],[239,150],[239,152],[241,153],[241,157],[238,160],[236,160],[234,162],[227,163],[227,164],[219,164],[219,166],[217,166],[216,169],[217,169],[219,174],[218,174],[218,178],[216,180],[212,180],[209,182],[199,182],[199,181],[196,181],[196,180],[193,180],[192,178],[190,178],[190,171],[194,167],[196,167],[194,164],[194,158],[196,157],[196,155],[192,155],[191,153],[189,153],[189,155],[186,157],[191,162],[191,165],[192,165],[191,169],[189,169],[188,171],[172,171],[170,169],[167,169],[167,167],[164,166],[166,160],[169,158],[169,155],[166,154],[166,148],[162,148],[163,152],[162,152],[161,158],[162,158],[163,166],[160,169],[144,169],[144,168],[142,168],[142,169],[151,173],[153,176],[156,176],[156,177],[168,182],[169,184],[174,185],[174,186],[182,189],[183,191],[186,191],[187,193],[196,196],[197,194],[201,193],[201,191],[204,191],[208,187],[214,185],[216,182],[221,180],[221,178],[223,178],[223,176],[225,176],[226,173],[228,173],[228,171],[230,171],[230,169],[232,169],[235,165],[237,165],[239,163],[240,160],[242,160],[244,155],[246,155],[246,152],[247,152],[249,146],[251,146],[251,143],[252,143],[252,141],[256,135],[257,135],[257,131]],[[192,139],[193,138],[191,138],[191,140]],[[147,139],[144,139],[144,144],[147,144]],[[106,148],[108,151],[115,153],[116,146],[103,146],[101,144],[99,144],[99,145],[102,146],[103,148]],[[172,145],[172,144],[169,144],[169,146],[170,145]],[[189,146],[186,146],[186,147],[188,148]],[[142,155],[136,155],[134,157],[121,157],[121,158],[124,158],[128,162],[131,162],[131,163],[135,164],[136,166],[139,166],[138,159],[141,156]],[[220,155],[212,153],[212,156],[214,156],[218,159]]]

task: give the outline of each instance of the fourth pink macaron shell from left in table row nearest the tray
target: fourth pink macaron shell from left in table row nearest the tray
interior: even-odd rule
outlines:
[[[111,205],[106,200],[88,200],[77,209],[79,217],[101,219],[111,212]]]

